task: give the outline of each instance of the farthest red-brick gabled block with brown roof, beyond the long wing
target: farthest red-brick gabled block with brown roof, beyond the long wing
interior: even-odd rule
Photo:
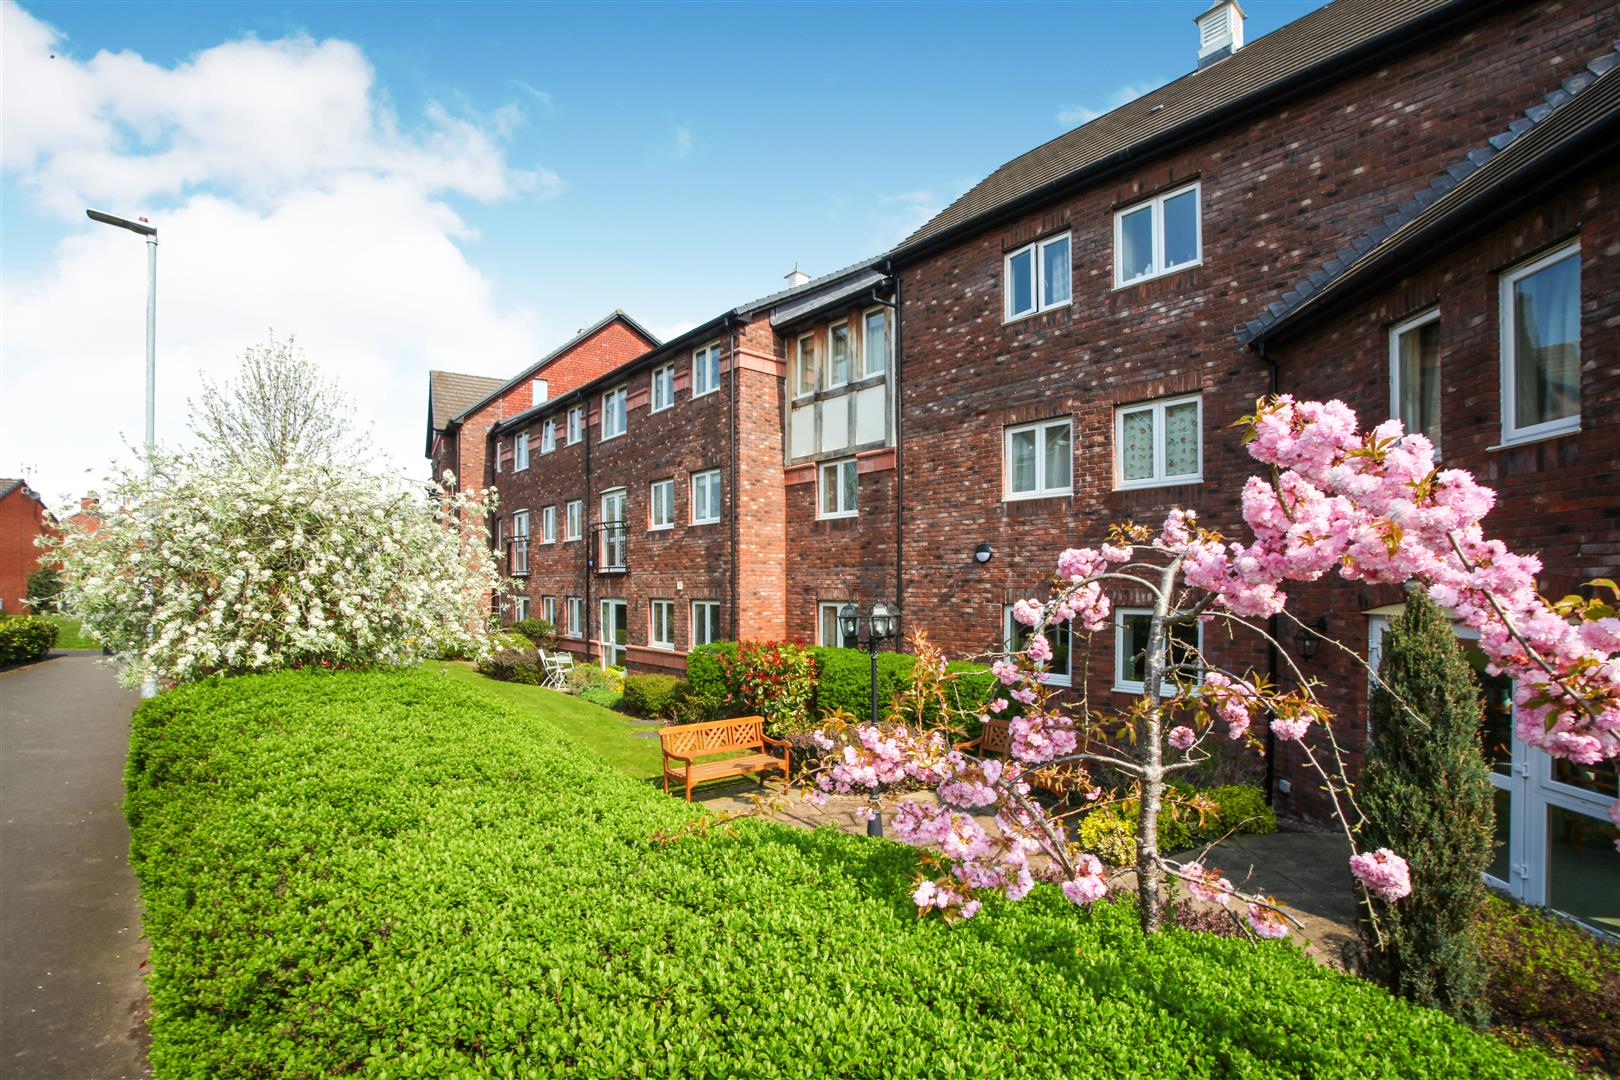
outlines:
[[[653,345],[658,338],[642,324],[614,311],[512,379],[429,372],[428,458],[433,476],[442,478],[444,470],[450,470],[458,484],[465,484],[468,476],[484,483],[486,471],[496,466],[486,460],[489,429],[496,423],[565,393]]]

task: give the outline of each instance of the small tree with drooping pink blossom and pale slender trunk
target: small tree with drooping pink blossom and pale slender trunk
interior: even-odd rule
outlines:
[[[1328,712],[1264,622],[1290,617],[1290,583],[1333,572],[1424,588],[1452,619],[1476,630],[1490,670],[1515,680],[1518,733],[1526,743],[1578,763],[1620,755],[1615,607],[1541,597],[1534,585],[1541,562],[1482,533],[1492,491],[1466,471],[1439,470],[1429,440],[1403,432],[1398,421],[1361,432],[1341,402],[1278,397],[1260,402],[1241,426],[1249,453],[1267,466],[1243,491],[1249,542],[1226,541],[1196,515],[1174,510],[1157,531],[1121,525],[1098,547],[1064,551],[1051,596],[1014,606],[1013,617],[1029,628],[1027,646],[995,661],[1004,693],[978,716],[982,722],[1009,717],[1006,759],[954,742],[962,717],[943,691],[944,657],[925,640],[914,688],[896,699],[885,724],[833,724],[818,733],[828,755],[812,777],[813,798],[876,792],[907,779],[936,793],[936,801],[901,801],[893,823],[901,840],[928,850],[914,892],[920,910],[970,918],[985,895],[1021,899],[1037,876],[1061,884],[1076,904],[1106,895],[1111,876],[1123,871],[1108,871],[1081,852],[1063,814],[1032,795],[1037,784],[1061,782],[1092,805],[1119,798],[1092,779],[1098,769],[1126,777],[1139,800],[1132,870],[1144,931],[1160,928],[1165,881],[1173,878],[1196,899],[1228,905],[1234,916],[1241,908],[1254,934],[1286,934],[1277,904],[1207,866],[1209,848],[1189,861],[1158,850],[1166,780],[1207,759],[1210,740],[1259,746],[1267,727],[1275,738],[1298,743],[1322,776],[1351,840],[1349,870],[1359,887],[1383,900],[1406,895],[1409,870],[1398,852],[1358,850],[1361,814]],[[1614,583],[1599,585],[1614,591]],[[1048,635],[1059,625],[1077,633],[1111,625],[1110,589],[1119,586],[1153,597],[1142,695],[1123,712],[1094,709],[1084,695],[1066,701],[1047,687]],[[1293,687],[1212,662],[1187,643],[1189,635],[1178,633],[1199,622],[1270,643],[1288,664]],[[985,816],[993,827],[982,824]],[[1610,816],[1620,821],[1620,803]]]

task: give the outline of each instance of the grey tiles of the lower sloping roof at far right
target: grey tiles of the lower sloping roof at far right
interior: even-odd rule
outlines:
[[[1464,157],[1440,170],[1427,188],[1322,264],[1302,282],[1265,306],[1259,317],[1238,332],[1238,340],[1254,343],[1296,325],[1309,313],[1324,311],[1345,298],[1358,282],[1371,280],[1392,259],[1421,246],[1466,238],[1477,225],[1471,207],[1500,199],[1507,191],[1533,180],[1545,155],[1575,139],[1609,139],[1610,151],[1620,134],[1604,136],[1604,128],[1620,128],[1620,42],[1586,65],[1529,107],[1507,131],[1492,136]]]

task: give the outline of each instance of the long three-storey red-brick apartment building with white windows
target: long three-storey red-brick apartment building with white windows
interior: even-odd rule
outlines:
[[[716,636],[833,644],[842,601],[897,601],[951,654],[1003,649],[1009,606],[1111,521],[1187,507],[1241,533],[1254,463],[1230,424],[1272,392],[1434,426],[1549,591],[1617,576],[1617,36],[1612,0],[1336,0],[1244,44],[1217,0],[1196,71],[886,256],[491,423],[492,461],[552,447],[486,470],[526,583],[509,617],[554,612],[582,656],[640,669]],[[1374,659],[1401,599],[1294,593]],[[1113,633],[1089,656],[1059,636],[1053,672],[1126,706],[1147,597],[1116,599]],[[1215,662],[1281,674],[1259,640],[1205,633]],[[1366,672],[1332,649],[1307,670],[1358,764]],[[1500,709],[1490,730],[1492,876],[1620,931],[1614,771],[1528,755]],[[1324,813],[1275,745],[1265,784]]]

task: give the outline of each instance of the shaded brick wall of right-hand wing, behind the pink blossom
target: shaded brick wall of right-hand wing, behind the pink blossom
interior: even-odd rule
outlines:
[[[1581,243],[1581,429],[1510,449],[1502,442],[1500,272],[1547,248]],[[1497,491],[1487,534],[1513,551],[1536,552],[1542,593],[1558,597],[1583,581],[1620,578],[1620,167],[1571,183],[1516,220],[1443,253],[1294,342],[1273,350],[1283,390],[1306,398],[1338,397],[1364,423],[1390,406],[1390,327],[1437,308],[1440,313],[1440,452],[1445,468],[1471,471]],[[1366,654],[1367,612],[1398,604],[1400,589],[1346,585],[1296,588],[1304,620],[1327,619],[1328,633]],[[1306,662],[1336,719],[1353,766],[1361,764],[1367,722],[1367,677],[1348,659],[1322,651]],[[1315,782],[1290,748],[1278,774],[1291,780],[1283,805],[1324,816]]]

